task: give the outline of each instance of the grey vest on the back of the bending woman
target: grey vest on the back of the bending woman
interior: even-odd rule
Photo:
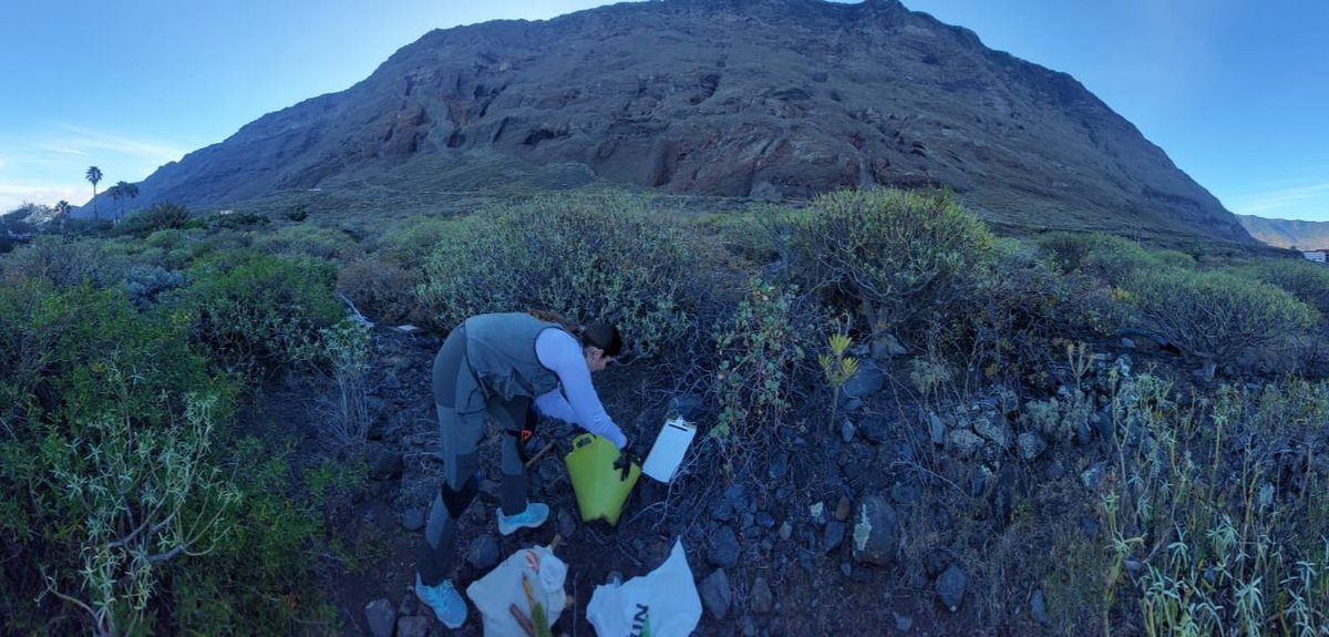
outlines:
[[[558,375],[540,364],[536,336],[558,323],[530,314],[481,314],[466,319],[466,360],[485,391],[485,399],[534,399],[558,388]]]

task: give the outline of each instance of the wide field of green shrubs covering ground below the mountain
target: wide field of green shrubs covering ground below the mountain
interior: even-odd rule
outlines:
[[[375,343],[548,309],[622,326],[641,386],[614,404],[698,396],[680,492],[742,485],[803,528],[819,472],[880,484],[897,533],[869,555],[882,529],[855,528],[856,572],[930,590],[962,568],[969,596],[938,598],[969,626],[1325,634],[1326,299],[1329,271],[1297,259],[998,237],[945,191],[74,222],[0,255],[0,618],[19,634],[336,633],[327,582],[379,549],[338,523],[384,418]],[[869,374],[884,391],[855,386]],[[279,387],[319,402],[316,427],[264,412]],[[865,436],[898,442],[900,473],[857,459]],[[855,493],[867,517],[874,496]],[[780,555],[767,541],[743,551]],[[845,597],[874,609],[853,610],[863,634],[890,621]]]

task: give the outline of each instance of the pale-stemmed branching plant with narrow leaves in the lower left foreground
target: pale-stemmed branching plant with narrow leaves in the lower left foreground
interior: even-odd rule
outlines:
[[[121,392],[132,391],[134,378],[114,364],[102,374]],[[86,516],[74,581],[60,567],[43,565],[45,592],[85,612],[97,634],[136,633],[163,564],[205,556],[230,533],[241,493],[210,461],[217,400],[190,395],[178,424],[138,431],[122,406],[85,423],[78,438],[43,444],[61,507]]]

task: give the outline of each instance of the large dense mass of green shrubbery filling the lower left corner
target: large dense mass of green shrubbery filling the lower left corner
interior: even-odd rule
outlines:
[[[0,334],[0,537],[32,569],[0,589],[48,626],[150,626],[162,573],[229,528],[210,440],[234,384],[181,317],[89,286],[4,286]]]

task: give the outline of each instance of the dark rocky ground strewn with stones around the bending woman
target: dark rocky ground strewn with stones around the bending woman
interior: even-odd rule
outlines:
[[[379,327],[375,339],[369,481],[334,520],[356,561],[330,568],[344,632],[478,636],[474,606],[466,626],[449,632],[411,593],[428,504],[441,480],[429,395],[440,338]],[[668,380],[641,363],[601,376],[606,407],[643,449],[671,399],[696,400],[662,388]],[[1103,465],[1094,459],[1106,455],[1098,431],[1103,419],[1091,415],[1066,440],[1030,426],[1015,436],[1014,395],[998,392],[938,414],[900,398],[905,392],[892,378],[867,363],[845,387],[851,398],[835,431],[791,428],[746,481],[702,465],[716,456],[699,436],[694,449],[703,460],[687,465],[672,487],[642,477],[617,527],[579,520],[562,460],[575,431],[546,422],[529,448],[554,442],[554,449],[530,476],[532,499],[549,503],[552,519],[500,536],[498,446],[490,434],[482,447],[489,479],[459,536],[459,580],[465,586],[517,549],[557,535],[575,605],[554,634],[591,636],[585,609],[594,586],[614,574],[646,574],[682,539],[704,608],[695,634],[1049,630],[1039,564],[1057,533],[1100,532],[1096,497],[1087,493],[1102,479]],[[1092,400],[1090,408],[1096,408]],[[310,435],[316,436],[314,428]]]

